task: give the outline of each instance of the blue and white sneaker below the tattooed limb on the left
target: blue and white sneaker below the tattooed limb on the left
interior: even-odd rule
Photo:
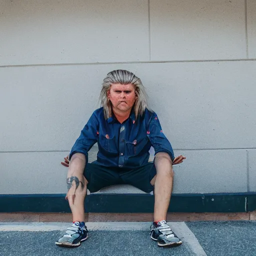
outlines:
[[[71,227],[66,229],[64,235],[55,241],[55,244],[63,247],[77,247],[88,238],[87,227],[80,226],[79,221],[75,221]]]

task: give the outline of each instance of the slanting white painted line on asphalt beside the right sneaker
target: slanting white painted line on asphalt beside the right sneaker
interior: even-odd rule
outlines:
[[[186,243],[197,256],[207,256],[204,249],[185,222],[168,222],[173,232]]]

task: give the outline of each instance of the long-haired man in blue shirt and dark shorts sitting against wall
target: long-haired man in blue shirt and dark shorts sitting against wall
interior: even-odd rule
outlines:
[[[159,246],[177,246],[181,240],[166,223],[173,182],[174,158],[156,113],[147,107],[146,93],[140,79],[126,70],[107,74],[100,92],[101,108],[96,109],[71,148],[66,198],[73,224],[55,243],[75,247],[87,239],[84,223],[84,198],[87,188],[95,192],[114,184],[131,184],[145,192],[154,190],[154,222],[151,238]],[[97,160],[88,163],[88,151],[98,143]],[[155,157],[148,162],[149,148]],[[69,162],[70,161],[70,162]]]

